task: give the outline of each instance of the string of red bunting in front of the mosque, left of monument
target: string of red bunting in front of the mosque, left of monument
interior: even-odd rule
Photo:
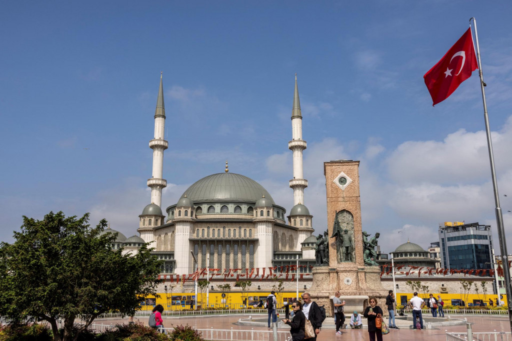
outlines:
[[[298,269],[309,268],[311,270],[313,268],[312,265],[299,265]],[[268,269],[268,271],[267,271]],[[243,272],[245,270],[245,272]],[[208,274],[209,271],[209,274]],[[295,272],[295,273],[291,273]],[[298,275],[300,279],[304,278],[304,275],[311,275],[310,273],[302,273],[297,274],[297,265],[280,265],[280,266],[269,266],[264,268],[251,268],[251,269],[242,269],[242,268],[230,268],[230,269],[218,269],[218,268],[202,268],[194,271],[192,274],[183,274],[183,275],[160,275],[158,279],[163,279],[164,281],[168,278],[170,283],[180,283],[183,282],[185,284],[186,281],[195,281],[199,278],[205,278],[207,274],[210,276],[209,280],[211,281],[215,276],[224,276],[224,281],[228,278],[236,277],[237,281],[241,278],[244,279],[259,279],[260,281],[263,279],[273,278],[275,276],[286,275],[286,280],[294,281],[295,276]]]

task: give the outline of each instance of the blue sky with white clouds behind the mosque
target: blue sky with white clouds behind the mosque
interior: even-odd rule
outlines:
[[[491,224],[497,245],[478,74],[436,107],[423,83],[476,16],[512,245],[511,12],[505,1],[4,2],[0,240],[22,215],[59,210],[136,234],[163,71],[164,208],[228,160],[289,212],[297,73],[317,232],[323,162],[346,158],[361,161],[363,228],[381,232],[383,252],[429,246],[443,221]]]

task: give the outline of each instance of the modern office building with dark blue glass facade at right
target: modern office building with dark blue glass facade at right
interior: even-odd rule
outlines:
[[[493,238],[490,225],[478,222],[439,224],[441,266],[447,269],[492,268]]]

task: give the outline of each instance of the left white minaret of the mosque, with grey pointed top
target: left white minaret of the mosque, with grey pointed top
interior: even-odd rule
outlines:
[[[147,180],[147,187],[151,188],[151,203],[162,206],[162,189],[167,186],[167,181],[162,178],[163,151],[168,143],[164,140],[165,131],[165,107],[163,104],[162,73],[160,73],[160,89],[158,90],[157,108],[155,110],[155,138],[150,141],[153,149],[153,175]],[[162,222],[163,223],[163,222]]]

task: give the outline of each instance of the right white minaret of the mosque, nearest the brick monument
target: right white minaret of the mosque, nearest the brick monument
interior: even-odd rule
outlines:
[[[292,140],[288,148],[293,151],[293,179],[290,187],[293,189],[293,205],[304,204],[304,189],[308,180],[304,179],[302,168],[302,151],[306,149],[306,141],[302,140],[301,102],[298,99],[297,74],[295,74],[295,92],[293,94],[293,109],[291,112]]]

